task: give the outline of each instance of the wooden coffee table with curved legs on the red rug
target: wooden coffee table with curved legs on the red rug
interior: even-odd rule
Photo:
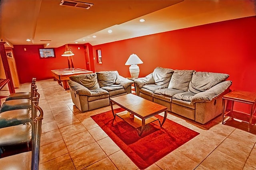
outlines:
[[[113,103],[126,109],[126,111],[114,113]],[[168,113],[167,107],[156,104],[134,94],[126,94],[123,96],[110,98],[110,106],[114,118],[117,115],[118,117],[135,127],[138,130],[139,136],[142,134],[144,126],[146,124],[156,120],[159,121],[159,119],[154,117],[154,115],[164,112],[164,119],[162,123],[160,123],[159,121],[160,127],[162,127]],[[134,114],[135,116],[133,118],[130,118],[130,114]],[[141,127],[141,129],[139,130],[138,127]]]

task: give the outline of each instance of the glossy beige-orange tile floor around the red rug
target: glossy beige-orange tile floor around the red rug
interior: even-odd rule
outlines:
[[[72,103],[69,90],[62,90],[56,81],[41,80],[36,84],[41,94],[39,105],[44,110],[41,170],[138,169],[90,118],[109,111],[110,106],[82,113]],[[21,84],[16,92],[29,90],[30,84],[26,83]],[[1,95],[8,95],[8,91],[1,91]],[[220,117],[212,121],[210,129],[170,113],[168,119],[200,134],[148,170],[256,170],[255,127],[252,133],[248,133],[246,125],[240,126],[242,123],[236,122],[231,122],[232,126],[222,125]]]

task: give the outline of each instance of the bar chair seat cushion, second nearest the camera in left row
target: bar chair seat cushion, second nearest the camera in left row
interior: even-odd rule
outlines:
[[[0,147],[27,143],[31,140],[31,125],[17,125],[0,129]]]

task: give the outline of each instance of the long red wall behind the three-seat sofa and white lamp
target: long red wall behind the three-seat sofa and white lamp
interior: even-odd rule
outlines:
[[[140,77],[157,66],[230,74],[231,89],[256,91],[256,16],[95,45],[102,64],[95,70],[118,70],[129,77],[128,57],[135,53]]]

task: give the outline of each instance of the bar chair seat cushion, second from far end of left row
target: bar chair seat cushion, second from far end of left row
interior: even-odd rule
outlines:
[[[15,109],[30,109],[31,108],[31,100],[30,99],[16,99],[9,100],[2,104],[2,109],[0,113],[8,110]]]

